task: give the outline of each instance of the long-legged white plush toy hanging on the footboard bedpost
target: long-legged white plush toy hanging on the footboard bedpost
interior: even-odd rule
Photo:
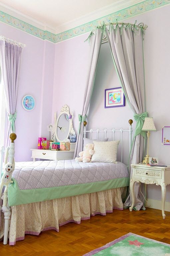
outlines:
[[[3,205],[2,205],[3,212],[8,212],[8,207],[7,207],[8,187],[9,187],[9,184],[13,182],[11,181],[11,178],[12,178],[12,172],[14,171],[14,169],[15,169],[15,164],[7,163],[4,166],[4,174],[1,178],[1,183],[0,183],[0,196],[2,194],[3,186],[5,186],[5,191],[3,196]]]

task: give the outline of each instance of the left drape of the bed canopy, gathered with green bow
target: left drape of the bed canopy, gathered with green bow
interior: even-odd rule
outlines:
[[[103,36],[103,28],[96,29],[95,33],[90,33],[90,52],[89,52],[89,66],[87,71],[87,78],[85,82],[85,96],[83,103],[83,111],[82,114],[79,114],[79,129],[77,135],[77,142],[75,148],[74,158],[79,156],[79,152],[83,150],[83,129],[84,129],[84,121],[86,120],[86,114],[88,110],[88,106],[90,103],[90,98],[93,90],[95,73],[97,67],[97,61],[99,56],[99,51],[101,47],[101,41]]]

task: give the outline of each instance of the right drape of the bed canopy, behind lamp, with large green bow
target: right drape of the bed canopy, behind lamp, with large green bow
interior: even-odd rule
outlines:
[[[130,164],[140,163],[143,160],[145,149],[145,133],[141,132],[143,122],[147,113],[145,112],[145,84],[143,63],[143,31],[133,26],[110,26],[109,31],[105,29],[116,72],[120,79],[127,102],[134,112],[137,121],[135,136],[133,139],[129,157],[130,176],[132,171]],[[141,135],[142,134],[142,135]],[[145,194],[144,184],[135,184],[135,210],[144,208]],[[131,205],[131,196],[128,195],[124,207]]]

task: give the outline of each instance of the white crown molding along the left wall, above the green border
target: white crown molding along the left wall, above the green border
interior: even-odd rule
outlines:
[[[1,1],[0,1],[0,10],[2,12],[12,16],[13,18],[19,19],[19,20],[21,20],[25,23],[28,23],[34,27],[37,27],[41,30],[49,31],[51,33],[56,34],[55,27],[51,26],[50,24],[43,23],[42,21],[37,20],[21,11],[18,11],[17,9],[12,8],[9,5],[2,3]]]

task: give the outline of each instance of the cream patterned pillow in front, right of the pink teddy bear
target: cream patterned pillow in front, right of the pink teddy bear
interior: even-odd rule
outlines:
[[[115,141],[93,141],[94,154],[91,162],[117,163],[117,147],[120,140]]]

